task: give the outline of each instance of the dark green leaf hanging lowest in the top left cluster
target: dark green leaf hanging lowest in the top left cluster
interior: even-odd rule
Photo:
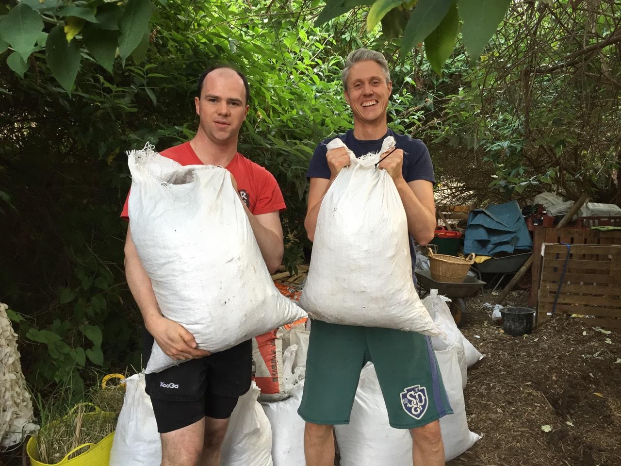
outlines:
[[[45,44],[47,66],[63,89],[71,95],[71,88],[78,76],[80,53],[78,42],[67,42],[61,26],[56,26]]]

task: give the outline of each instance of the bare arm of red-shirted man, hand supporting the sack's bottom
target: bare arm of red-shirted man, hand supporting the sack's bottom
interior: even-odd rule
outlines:
[[[152,334],[165,354],[173,359],[191,359],[209,355],[209,352],[196,348],[196,340],[184,327],[162,316],[151,280],[142,267],[129,227],[125,239],[125,277],[147,331]]]

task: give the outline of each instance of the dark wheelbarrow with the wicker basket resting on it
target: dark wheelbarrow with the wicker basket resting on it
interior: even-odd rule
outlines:
[[[416,275],[420,288],[420,299],[427,296],[432,289],[438,290],[438,295],[443,295],[451,299],[451,303],[448,307],[451,309],[451,314],[458,327],[460,327],[463,322],[462,313],[466,312],[465,298],[476,295],[476,293],[486,285],[484,281],[469,275],[466,275],[462,283],[435,281],[431,278],[431,272],[429,270],[414,270],[414,275]]]

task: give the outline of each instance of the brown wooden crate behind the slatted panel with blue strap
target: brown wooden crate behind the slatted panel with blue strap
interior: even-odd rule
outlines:
[[[533,237],[534,260],[531,270],[530,294],[528,295],[528,306],[537,306],[539,295],[539,283],[542,263],[542,245],[544,243],[567,243],[567,244],[621,244],[621,231],[597,231],[585,230],[581,228],[545,228],[535,227]]]

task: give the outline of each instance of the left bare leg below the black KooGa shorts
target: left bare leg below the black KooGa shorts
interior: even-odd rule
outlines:
[[[176,431],[160,434],[161,466],[197,466],[202,454],[204,418]]]

